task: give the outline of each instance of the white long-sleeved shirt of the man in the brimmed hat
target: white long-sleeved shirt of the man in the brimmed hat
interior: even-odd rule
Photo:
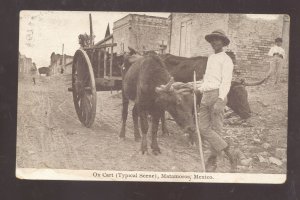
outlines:
[[[220,52],[208,57],[203,83],[198,85],[201,92],[219,89],[219,98],[225,99],[232,81],[233,63],[231,58]]]

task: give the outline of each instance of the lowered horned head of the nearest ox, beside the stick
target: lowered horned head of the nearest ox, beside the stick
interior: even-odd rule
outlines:
[[[183,131],[193,138],[196,130],[193,117],[193,96],[174,88],[173,83],[174,79],[171,78],[166,85],[155,88],[156,103],[163,110],[168,111]]]

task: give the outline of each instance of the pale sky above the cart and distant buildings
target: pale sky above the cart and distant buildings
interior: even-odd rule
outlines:
[[[102,40],[109,23],[130,14],[168,17],[170,13],[145,12],[79,12],[79,11],[22,11],[20,13],[19,51],[32,58],[37,67],[48,67],[52,52],[74,55],[79,48],[78,35],[89,34],[89,13],[92,14],[95,43]]]

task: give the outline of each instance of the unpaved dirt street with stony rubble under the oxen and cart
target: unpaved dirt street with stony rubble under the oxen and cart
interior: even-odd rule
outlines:
[[[283,85],[283,84],[282,84]],[[265,86],[267,87],[267,86]],[[224,136],[237,146],[245,159],[254,158],[257,153],[272,156],[276,147],[286,145],[286,105],[287,99],[277,98],[286,87],[266,94],[269,103],[262,103],[263,87],[251,88],[254,114],[247,125],[225,126]],[[252,94],[253,92],[253,94]],[[287,93],[287,92],[285,92]],[[251,96],[252,95],[252,96]],[[196,147],[190,147],[187,137],[178,130],[178,126],[168,121],[173,134],[161,136],[159,146],[162,154],[155,156],[148,143],[148,154],[142,155],[140,143],[134,141],[131,117],[132,104],[129,108],[126,139],[118,137],[121,125],[121,94],[113,91],[98,92],[98,105],[95,123],[91,128],[82,126],[77,118],[72,93],[67,92],[67,84],[61,76],[39,77],[33,85],[28,77],[19,81],[18,89],[18,125],[17,125],[17,167],[21,168],[57,168],[57,169],[97,169],[97,170],[137,170],[137,171],[195,171],[200,172],[200,158]],[[252,99],[256,99],[253,101]],[[272,105],[271,105],[272,103]],[[270,105],[269,105],[270,104]],[[274,104],[274,105],[273,105]],[[266,106],[267,105],[267,106]],[[280,105],[281,113],[272,112],[272,106]],[[270,110],[270,111],[269,111]],[[276,116],[275,116],[276,115]],[[150,135],[150,134],[148,134]],[[254,144],[253,138],[259,137],[272,148],[264,149],[261,144]],[[209,150],[204,148],[205,157]],[[228,161],[219,160],[218,172],[228,172]],[[239,166],[239,172],[285,172],[283,165],[251,162]]]

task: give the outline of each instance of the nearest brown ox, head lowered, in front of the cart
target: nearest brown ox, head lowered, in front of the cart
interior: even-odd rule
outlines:
[[[126,65],[126,60],[124,67]],[[152,118],[152,142],[151,148],[154,154],[160,153],[157,143],[157,130],[159,119],[165,111],[168,111],[176,123],[184,131],[194,134],[192,95],[178,93],[172,87],[173,78],[167,71],[164,63],[158,56],[149,55],[137,59],[123,75],[123,124],[120,137],[125,137],[128,99],[135,102],[132,111],[135,124],[135,139],[140,138],[138,120],[142,130],[142,153],[147,151],[148,114]],[[126,118],[125,118],[126,117]]]

